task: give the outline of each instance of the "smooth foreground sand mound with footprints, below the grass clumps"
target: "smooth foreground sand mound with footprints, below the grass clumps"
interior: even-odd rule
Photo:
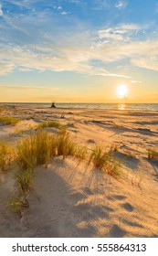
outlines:
[[[1,237],[158,237],[152,185],[140,188],[58,157],[47,169],[37,168],[21,219],[3,208]]]

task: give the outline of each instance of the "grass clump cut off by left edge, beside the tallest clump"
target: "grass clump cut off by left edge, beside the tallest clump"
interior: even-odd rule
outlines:
[[[6,143],[0,142],[0,170],[5,172],[15,157],[13,147]]]

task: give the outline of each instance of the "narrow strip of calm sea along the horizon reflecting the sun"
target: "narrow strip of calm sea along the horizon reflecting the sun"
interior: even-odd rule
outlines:
[[[50,107],[51,103],[1,103],[5,105],[27,105],[37,107]],[[111,109],[111,110],[137,110],[137,111],[158,111],[158,103],[148,104],[110,104],[110,103],[56,103],[58,108],[87,108],[87,109]]]

